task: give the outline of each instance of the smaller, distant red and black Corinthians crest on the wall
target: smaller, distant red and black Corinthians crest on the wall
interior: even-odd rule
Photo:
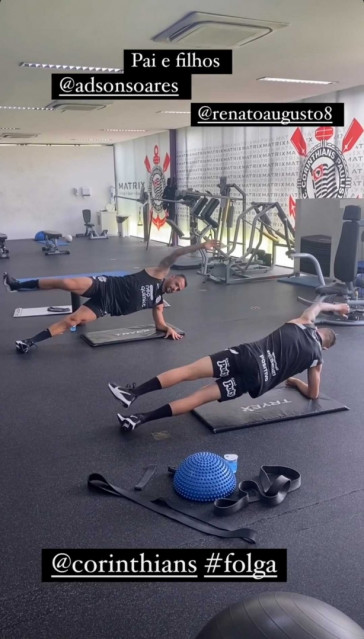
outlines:
[[[152,224],[160,229],[166,222],[166,213],[163,208],[162,196],[166,187],[165,172],[168,170],[170,157],[166,153],[163,166],[160,165],[159,147],[154,147],[153,166],[148,156],[145,157],[145,168],[149,173],[148,193],[150,196],[151,209],[149,211]]]

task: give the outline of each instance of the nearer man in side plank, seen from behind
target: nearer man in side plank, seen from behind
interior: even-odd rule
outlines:
[[[322,312],[346,316],[347,304],[317,302],[300,317],[286,322],[263,339],[240,344],[214,355],[203,357],[192,364],[162,373],[132,390],[109,384],[113,395],[128,408],[140,395],[179,382],[203,377],[216,381],[204,386],[188,397],[165,404],[150,413],[136,413],[129,417],[118,414],[123,430],[134,430],[145,422],[187,413],[202,404],[217,400],[224,402],[243,393],[259,397],[285,381],[309,399],[317,399],[320,390],[322,350],[330,348],[336,335],[330,328],[316,328],[315,319]],[[293,377],[307,370],[307,383]]]

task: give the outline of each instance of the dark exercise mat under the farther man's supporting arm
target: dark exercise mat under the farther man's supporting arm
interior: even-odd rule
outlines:
[[[177,333],[184,335],[184,331],[177,326],[169,324]],[[165,337],[164,331],[157,331],[154,324],[147,326],[129,326],[125,328],[112,328],[107,331],[95,331],[83,333],[82,339],[90,346],[106,346],[108,344],[120,344],[143,339],[157,339]]]

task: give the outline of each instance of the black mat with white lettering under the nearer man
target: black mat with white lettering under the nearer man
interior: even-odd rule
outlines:
[[[326,395],[306,399],[293,388],[278,387],[256,399],[244,395],[228,402],[205,404],[193,412],[213,433],[222,433],[341,410],[349,408]]]

